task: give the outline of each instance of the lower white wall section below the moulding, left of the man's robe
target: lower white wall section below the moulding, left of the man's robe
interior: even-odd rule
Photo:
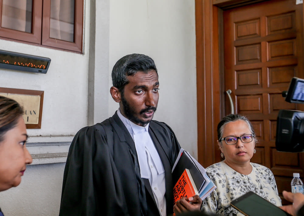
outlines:
[[[0,193],[5,216],[58,215],[64,163],[27,166],[18,187]]]

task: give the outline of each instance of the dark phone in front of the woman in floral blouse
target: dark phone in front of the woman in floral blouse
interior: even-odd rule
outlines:
[[[252,191],[231,201],[230,205],[247,216],[291,216]]]

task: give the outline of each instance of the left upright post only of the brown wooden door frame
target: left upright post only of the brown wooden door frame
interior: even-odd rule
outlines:
[[[195,0],[197,149],[204,167],[215,162],[214,128],[219,109],[218,7],[212,0]],[[207,124],[208,123],[208,124]]]

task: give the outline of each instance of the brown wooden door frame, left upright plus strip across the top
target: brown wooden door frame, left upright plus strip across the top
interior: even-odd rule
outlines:
[[[220,161],[218,122],[224,115],[223,10],[265,0],[195,0],[198,161]],[[304,5],[303,5],[304,11]]]

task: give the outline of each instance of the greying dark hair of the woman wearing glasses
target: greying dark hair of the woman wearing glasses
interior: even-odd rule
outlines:
[[[243,120],[248,125],[250,133],[253,135],[254,143],[257,143],[257,136],[254,132],[251,122],[245,116],[241,116],[239,114],[229,114],[219,122],[219,124],[217,125],[217,139],[218,140],[222,139],[224,126],[226,124],[237,120]]]

